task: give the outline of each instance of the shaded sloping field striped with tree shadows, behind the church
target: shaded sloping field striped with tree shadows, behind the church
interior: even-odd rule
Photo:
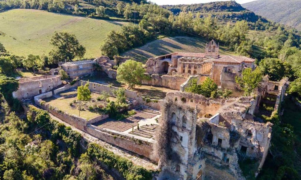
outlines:
[[[186,36],[168,37],[152,41],[139,48],[124,52],[122,55],[145,63],[148,58],[172,52],[205,52],[206,42],[209,41],[203,38]],[[220,46],[219,53],[234,55],[234,52],[223,46]]]

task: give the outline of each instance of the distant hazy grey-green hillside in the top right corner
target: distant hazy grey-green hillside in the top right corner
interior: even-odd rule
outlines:
[[[267,19],[301,30],[300,0],[259,0],[242,6]]]

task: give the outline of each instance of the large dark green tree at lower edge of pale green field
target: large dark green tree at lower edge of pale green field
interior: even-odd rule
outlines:
[[[51,38],[53,49],[49,52],[52,64],[59,61],[72,61],[74,58],[83,58],[86,52],[84,46],[79,44],[74,34],[56,32]]]

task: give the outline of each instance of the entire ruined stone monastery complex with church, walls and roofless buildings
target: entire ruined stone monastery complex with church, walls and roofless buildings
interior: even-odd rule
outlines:
[[[126,60],[121,58],[118,63]],[[135,109],[137,114],[120,121],[106,114],[85,119],[51,105],[51,101],[67,101],[74,95],[73,90],[85,83],[93,93],[106,91],[114,98],[116,87],[80,79],[64,85],[57,75],[60,68],[72,79],[93,76],[95,70],[101,70],[116,79],[113,66],[118,63],[106,56],[62,63],[51,70],[52,75],[19,79],[20,87],[13,96],[33,98],[36,105],[70,125],[148,158],[160,169],[154,179],[245,179],[239,161],[254,160],[257,176],[272,138],[273,124],[255,115],[260,113],[260,104],[267,101],[274,111],[281,112],[288,79],[272,82],[266,76],[252,96],[228,99],[206,98],[187,93],[185,88],[192,78],[202,82],[210,77],[221,89],[237,90],[235,77],[241,76],[244,68],[254,70],[254,61],[244,56],[219,55],[219,44],[214,40],[206,45],[205,53],[175,52],[150,58],[145,68],[151,78],[142,84],[172,90],[165,99],[150,101],[136,91],[125,90],[127,109]]]

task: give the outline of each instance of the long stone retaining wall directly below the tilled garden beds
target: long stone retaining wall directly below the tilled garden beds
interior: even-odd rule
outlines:
[[[135,152],[138,155],[142,155],[152,161],[157,162],[156,159],[151,157],[152,154],[152,143],[143,140],[134,140],[130,136],[120,135],[110,131],[106,131],[103,128],[99,128],[94,125],[87,125],[85,131],[92,136],[95,136],[107,143],[113,144],[120,148],[126,149],[131,152]]]

